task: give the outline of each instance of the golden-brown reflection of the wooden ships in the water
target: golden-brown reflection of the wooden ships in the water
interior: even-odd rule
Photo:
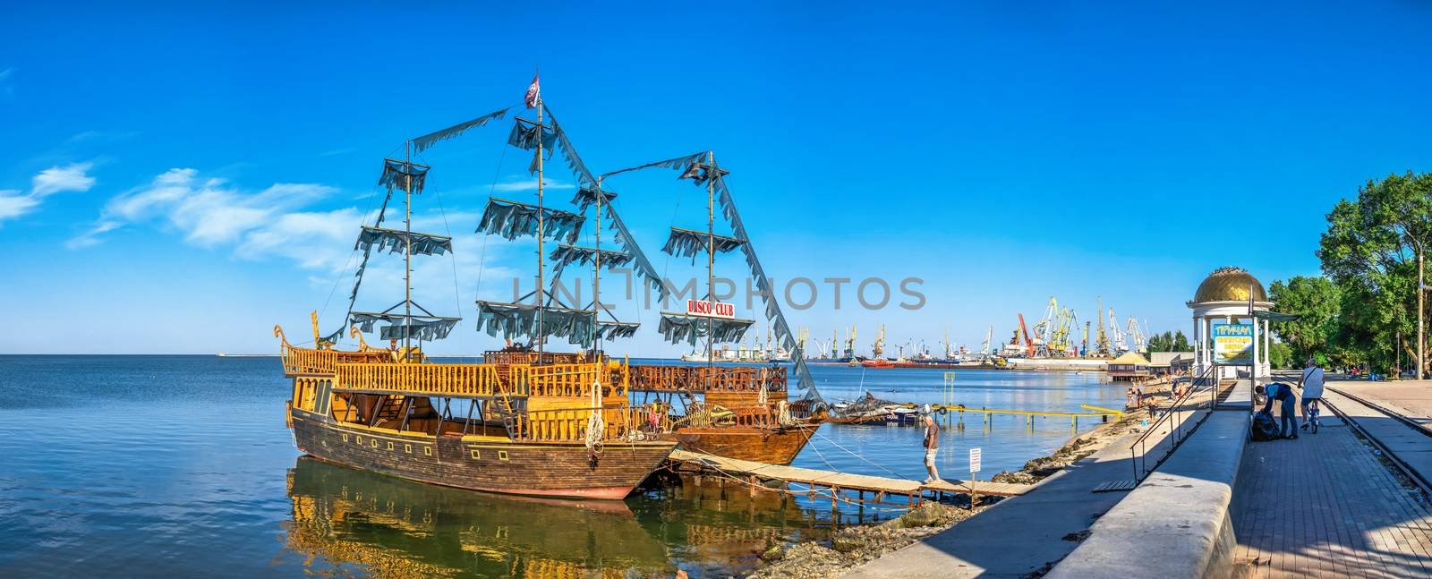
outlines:
[[[375,578],[670,578],[750,569],[829,517],[782,494],[690,484],[614,500],[544,500],[411,483],[298,459],[286,546],[311,572]]]

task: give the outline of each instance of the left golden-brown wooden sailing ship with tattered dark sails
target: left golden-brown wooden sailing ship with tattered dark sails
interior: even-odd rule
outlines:
[[[527,106],[536,109],[537,119],[516,119],[508,143],[534,152],[537,204],[493,199],[478,231],[510,239],[536,236],[541,271],[543,241],[574,239],[583,219],[543,205],[544,150],[567,140],[556,119],[543,123],[547,109],[536,79]],[[438,255],[453,251],[453,245],[450,236],[411,228],[412,198],[422,192],[430,169],[414,163],[411,153],[484,126],[507,110],[411,139],[404,159],[384,159],[378,182],[388,193],[377,222],[362,228],[355,245],[362,262],[344,328],[324,338],[315,321],[314,347],[301,348],[275,327],[285,374],[294,378],[288,424],[301,451],[349,467],[473,490],[621,499],[660,466],[674,441],[649,440],[653,437],[637,429],[647,408],[629,401],[626,364],[597,353],[544,353],[541,344],[550,335],[577,341],[603,331],[630,335],[633,324],[601,324],[596,307],[551,307],[538,281],[531,304],[478,302],[478,325],[490,332],[503,330],[508,338],[528,335],[534,350],[488,353],[481,364],[440,364],[422,354],[421,343],[447,337],[458,318],[435,315],[412,300],[412,257]],[[570,146],[566,153],[570,163],[580,166]],[[382,228],[395,191],[404,193],[404,228]],[[357,311],[362,274],[375,249],[401,251],[405,295],[382,311]],[[590,255],[581,248],[566,251],[577,261]],[[601,255],[596,249],[594,269]],[[335,348],[344,330],[367,332],[379,322],[388,324],[379,328],[388,350],[362,341],[357,351]]]

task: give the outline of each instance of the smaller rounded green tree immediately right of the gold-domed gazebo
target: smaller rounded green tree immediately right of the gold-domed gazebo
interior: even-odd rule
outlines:
[[[1269,297],[1277,311],[1297,315],[1293,321],[1270,324],[1273,334],[1292,348],[1289,355],[1307,360],[1317,353],[1327,354],[1325,350],[1339,331],[1337,314],[1342,311],[1339,290],[1332,279],[1299,275],[1286,284],[1274,281]]]

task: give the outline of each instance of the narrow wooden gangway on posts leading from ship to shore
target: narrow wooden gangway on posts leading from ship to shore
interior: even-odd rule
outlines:
[[[683,469],[716,472],[745,479],[750,483],[798,483],[811,489],[829,489],[832,496],[839,496],[842,492],[853,492],[859,502],[865,502],[865,494],[869,493],[874,503],[886,503],[889,497],[905,497],[908,504],[919,504],[927,494],[938,497],[941,494],[969,493],[971,490],[968,480],[941,480],[925,484],[918,480],[766,464],[687,450],[672,451],[670,460]],[[977,494],[1020,496],[1028,493],[1031,489],[1034,489],[1034,484],[991,483],[982,480],[974,483]]]

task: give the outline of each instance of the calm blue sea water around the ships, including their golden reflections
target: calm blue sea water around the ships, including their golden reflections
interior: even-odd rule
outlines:
[[[832,401],[945,396],[941,370],[812,371]],[[276,358],[0,357],[0,576],[710,576],[862,516],[709,480],[591,503],[408,483],[299,457],[288,391]],[[1090,373],[958,371],[954,397],[1063,411],[1123,403]],[[947,477],[968,476],[972,446],[987,477],[1074,434],[1067,418],[965,426],[945,430]],[[919,479],[919,436],[826,424],[796,464]]]

